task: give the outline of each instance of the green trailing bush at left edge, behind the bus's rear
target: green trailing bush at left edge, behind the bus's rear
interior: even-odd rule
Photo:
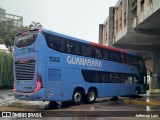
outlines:
[[[0,52],[0,88],[13,86],[13,54]]]

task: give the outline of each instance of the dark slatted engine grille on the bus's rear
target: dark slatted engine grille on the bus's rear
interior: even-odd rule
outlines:
[[[26,63],[15,63],[15,74],[17,80],[33,80],[35,72],[35,61],[30,60]]]

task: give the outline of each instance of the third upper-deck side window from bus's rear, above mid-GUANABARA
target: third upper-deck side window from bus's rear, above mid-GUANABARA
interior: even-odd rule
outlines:
[[[85,57],[94,57],[93,51],[90,45],[88,44],[81,44],[81,55]]]

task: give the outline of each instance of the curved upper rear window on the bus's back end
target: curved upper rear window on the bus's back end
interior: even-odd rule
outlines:
[[[16,36],[15,46],[18,48],[27,47],[35,42],[37,31],[28,31]]]

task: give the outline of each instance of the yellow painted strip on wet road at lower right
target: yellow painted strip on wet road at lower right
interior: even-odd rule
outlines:
[[[150,105],[150,106],[160,106],[160,102],[152,101],[152,102],[145,102],[145,101],[138,101],[138,100],[124,100],[125,104],[136,104],[136,105]]]

